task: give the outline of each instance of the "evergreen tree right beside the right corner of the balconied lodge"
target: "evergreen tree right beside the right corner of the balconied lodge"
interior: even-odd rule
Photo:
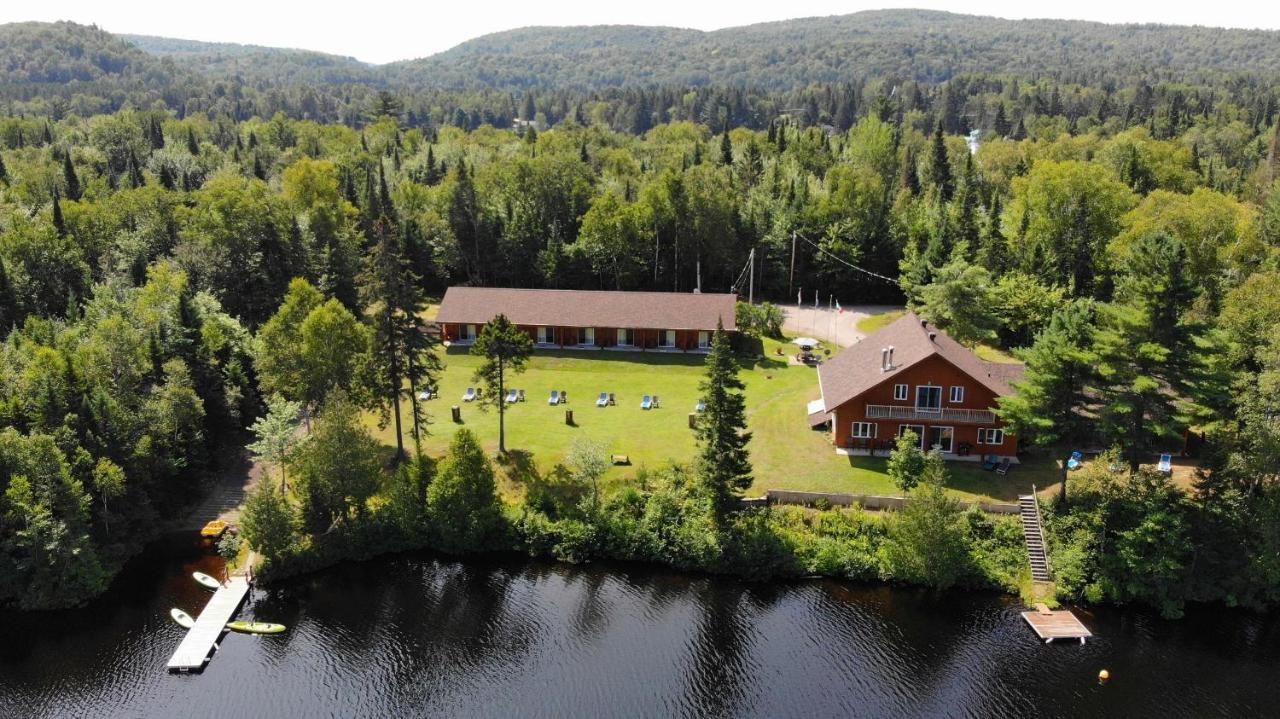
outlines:
[[[1015,394],[998,399],[1000,417],[1010,431],[1041,446],[1061,448],[1062,502],[1066,502],[1070,452],[1088,438],[1093,426],[1085,416],[1087,388],[1094,376],[1092,333],[1092,302],[1078,299],[1059,308],[1036,342],[1019,353],[1027,372],[1014,384]]]

